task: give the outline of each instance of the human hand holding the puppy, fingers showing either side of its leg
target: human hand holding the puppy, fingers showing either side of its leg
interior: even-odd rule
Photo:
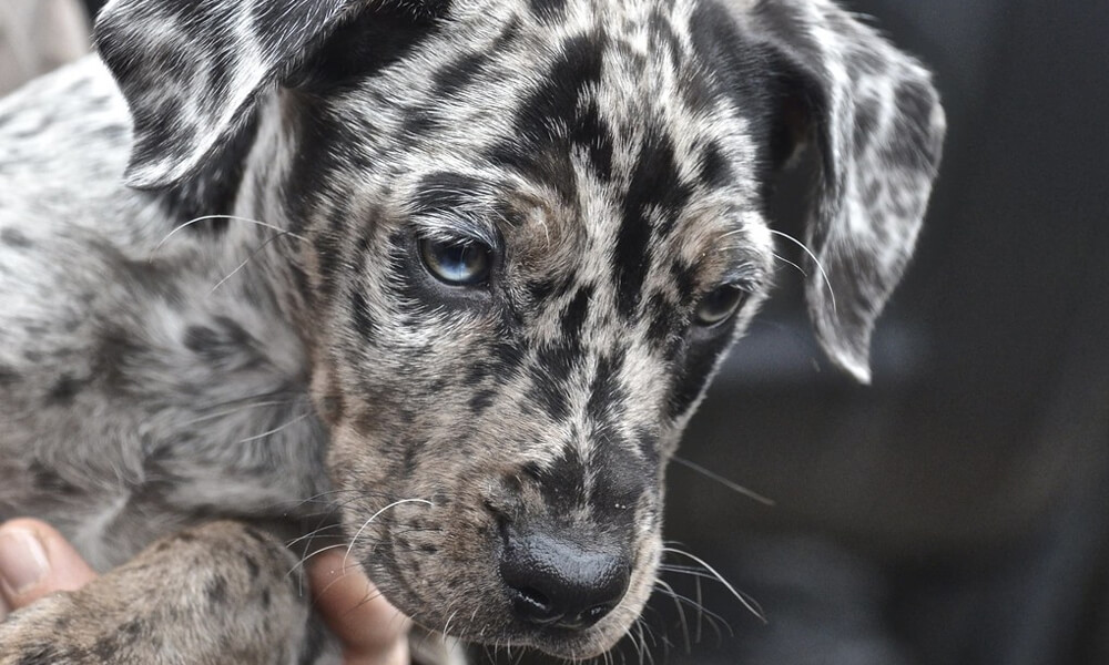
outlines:
[[[55,529],[38,520],[0,525],[0,621],[9,612],[59,591],[77,591],[96,577]],[[313,600],[343,644],[344,665],[408,665],[410,622],[342,554],[308,565]]]

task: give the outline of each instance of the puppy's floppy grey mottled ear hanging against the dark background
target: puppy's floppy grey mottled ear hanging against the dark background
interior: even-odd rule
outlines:
[[[749,12],[820,152],[810,316],[828,357],[868,382],[874,321],[913,253],[939,165],[939,98],[919,63],[827,0],[759,0]]]

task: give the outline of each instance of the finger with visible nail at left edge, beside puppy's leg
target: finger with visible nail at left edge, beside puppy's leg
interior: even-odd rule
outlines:
[[[19,519],[0,525],[0,596],[9,610],[55,591],[75,591],[96,577],[54,528]]]

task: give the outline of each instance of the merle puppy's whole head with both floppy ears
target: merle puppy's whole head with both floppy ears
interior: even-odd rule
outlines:
[[[818,153],[810,309],[866,380],[944,125],[824,0],[118,0],[98,39],[132,185],[246,135],[238,212],[303,239],[353,553],[426,626],[569,657],[653,586],[665,462],[774,272],[774,173]]]

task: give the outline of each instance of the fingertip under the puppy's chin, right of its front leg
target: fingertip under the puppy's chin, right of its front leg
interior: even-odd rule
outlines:
[[[408,665],[410,621],[389,604],[362,567],[337,552],[308,566],[316,608],[344,645],[344,665]]]

